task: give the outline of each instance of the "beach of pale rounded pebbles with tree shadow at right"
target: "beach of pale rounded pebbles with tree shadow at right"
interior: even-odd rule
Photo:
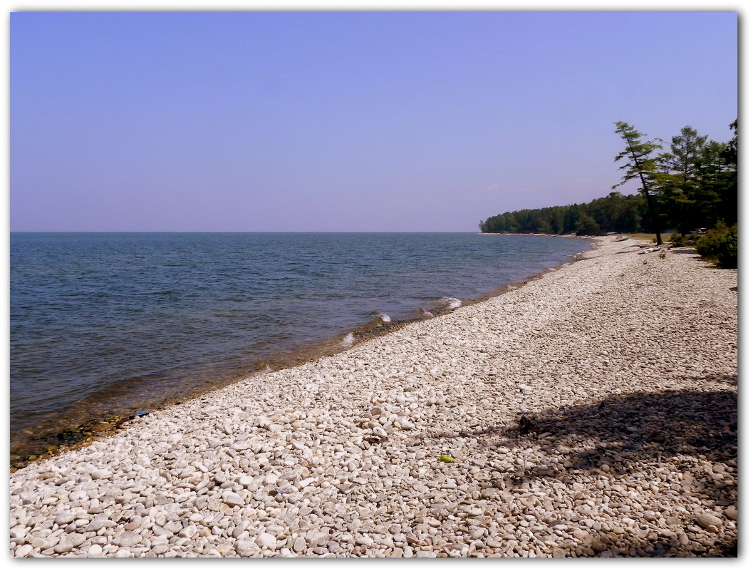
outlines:
[[[737,271],[596,239],[10,475],[11,557],[729,557]]]

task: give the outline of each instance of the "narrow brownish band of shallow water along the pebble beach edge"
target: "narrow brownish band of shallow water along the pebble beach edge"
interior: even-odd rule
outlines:
[[[544,234],[517,235],[544,236]],[[559,270],[562,266],[572,264],[573,261],[582,259],[582,256],[586,252],[597,247],[597,241],[593,237],[581,237],[575,236],[575,234],[565,236],[547,234],[546,236],[566,238],[577,237],[583,240],[588,240],[590,244],[584,251],[575,255],[569,255],[568,258],[572,258],[570,261],[563,261],[559,264],[555,264],[553,267],[544,268],[539,272],[531,273],[520,281],[499,285],[492,289],[488,294],[482,295],[480,298],[463,298],[462,300],[458,300],[462,302],[461,307],[478,304],[498,295],[505,295],[505,293],[517,289],[522,285],[525,285],[527,282],[534,279],[540,279],[541,276],[550,271]],[[147,402],[142,401],[139,406],[121,406],[120,408],[111,408],[104,412],[81,415],[80,418],[87,417],[87,420],[78,424],[72,422],[66,423],[61,417],[59,420],[51,420],[47,423],[40,423],[38,426],[26,427],[24,429],[25,432],[36,432],[37,434],[41,432],[41,435],[35,438],[17,438],[17,441],[11,441],[11,470],[14,471],[23,468],[23,466],[26,466],[28,463],[45,460],[68,450],[80,450],[81,447],[86,447],[97,439],[105,438],[108,435],[114,434],[123,426],[123,423],[133,420],[136,412],[144,408],[149,413],[163,411],[166,408],[180,405],[181,403],[191,401],[194,398],[200,398],[203,395],[215,392],[235,383],[241,383],[244,380],[248,380],[259,374],[295,368],[304,365],[307,362],[313,362],[317,359],[343,353],[343,351],[349,350],[366,340],[392,334],[410,323],[434,319],[446,315],[447,313],[451,313],[453,310],[456,310],[456,307],[446,307],[438,311],[434,310],[434,313],[429,314],[429,316],[395,319],[391,322],[383,322],[379,318],[371,319],[368,322],[364,322],[363,324],[346,331],[344,334],[321,340],[319,343],[298,347],[295,350],[270,353],[267,356],[259,358],[250,368],[251,370],[245,374],[233,375],[232,377],[207,378],[206,380],[203,380],[202,383],[197,384],[197,386],[178,395],[170,395],[157,399],[152,398],[152,400]],[[348,334],[353,334],[354,336],[354,340],[350,345],[343,344],[343,336],[347,336]],[[87,400],[89,398],[92,398],[92,395],[87,395],[82,400]]]

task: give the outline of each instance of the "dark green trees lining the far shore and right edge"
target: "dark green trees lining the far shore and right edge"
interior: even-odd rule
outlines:
[[[685,235],[694,228],[737,222],[737,120],[729,142],[709,141],[684,127],[664,150],[659,139],[644,142],[643,133],[616,123],[626,150],[626,175],[612,189],[636,180],[639,194],[611,192],[589,203],[515,210],[480,221],[482,232],[543,233],[595,236],[674,230]]]

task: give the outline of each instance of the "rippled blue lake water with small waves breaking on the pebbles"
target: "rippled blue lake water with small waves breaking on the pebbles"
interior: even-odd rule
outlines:
[[[348,347],[588,246],[479,234],[11,234],[11,447]]]

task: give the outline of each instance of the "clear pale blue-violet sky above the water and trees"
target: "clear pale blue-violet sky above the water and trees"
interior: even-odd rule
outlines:
[[[477,231],[726,142],[733,13],[11,14],[11,231]],[[623,188],[633,191],[633,188]]]

